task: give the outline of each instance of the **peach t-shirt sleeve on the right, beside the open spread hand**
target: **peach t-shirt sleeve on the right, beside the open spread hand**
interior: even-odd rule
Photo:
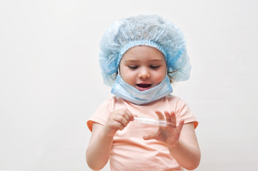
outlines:
[[[190,110],[189,106],[181,99],[178,98],[176,105],[176,115],[178,119],[185,120],[185,123],[193,123],[194,127],[197,128],[198,121]]]

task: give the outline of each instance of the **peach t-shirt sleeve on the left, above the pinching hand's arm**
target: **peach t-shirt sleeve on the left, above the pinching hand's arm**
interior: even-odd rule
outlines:
[[[92,125],[93,123],[99,123],[101,125],[104,125],[110,115],[110,100],[104,101],[95,113],[90,117],[89,120],[87,120],[87,127],[89,128],[90,131],[92,131]]]

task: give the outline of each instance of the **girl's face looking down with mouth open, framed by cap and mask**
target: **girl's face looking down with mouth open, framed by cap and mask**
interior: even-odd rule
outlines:
[[[123,80],[143,91],[158,86],[166,76],[166,60],[161,51],[150,46],[135,46],[124,53],[119,64]]]

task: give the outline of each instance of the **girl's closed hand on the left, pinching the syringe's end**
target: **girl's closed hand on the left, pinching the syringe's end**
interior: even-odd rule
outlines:
[[[127,109],[114,110],[107,123],[104,125],[104,132],[107,137],[113,137],[117,130],[124,130],[128,123],[134,120],[134,115]]]

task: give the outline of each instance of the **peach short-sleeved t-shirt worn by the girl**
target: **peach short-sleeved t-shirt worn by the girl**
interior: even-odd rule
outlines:
[[[92,131],[93,123],[104,125],[110,113],[114,110],[127,108],[133,115],[157,118],[155,110],[175,111],[176,117],[184,119],[185,123],[198,122],[186,103],[174,95],[168,95],[146,105],[135,105],[122,98],[109,98],[97,108],[94,115],[87,121],[87,126]],[[124,130],[118,130],[114,135],[113,145],[109,156],[110,169],[115,171],[131,170],[183,170],[173,159],[166,145],[157,140],[144,140],[146,133],[155,132],[158,126],[139,123],[137,120],[130,122]]]

